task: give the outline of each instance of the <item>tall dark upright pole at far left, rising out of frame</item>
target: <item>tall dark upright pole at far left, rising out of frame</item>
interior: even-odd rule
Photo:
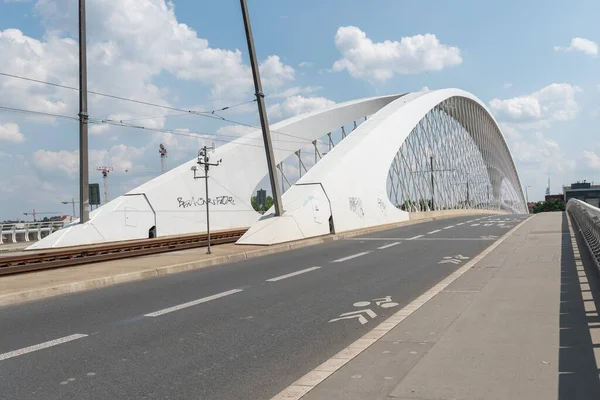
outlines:
[[[90,219],[85,0],[79,0],[79,223]]]

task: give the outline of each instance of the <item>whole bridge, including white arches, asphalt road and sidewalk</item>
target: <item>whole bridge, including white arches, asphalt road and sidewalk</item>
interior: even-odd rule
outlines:
[[[202,233],[207,201],[211,227],[245,231],[212,254],[0,278],[2,395],[600,398],[600,210],[527,214],[477,97],[362,99],[271,129],[282,216],[250,204],[255,131],[211,154],[208,199],[193,159],[30,246],[43,263]]]

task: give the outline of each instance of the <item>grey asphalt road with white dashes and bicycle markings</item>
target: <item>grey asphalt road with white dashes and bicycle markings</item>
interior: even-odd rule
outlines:
[[[0,398],[269,399],[526,217],[434,221],[0,308]]]

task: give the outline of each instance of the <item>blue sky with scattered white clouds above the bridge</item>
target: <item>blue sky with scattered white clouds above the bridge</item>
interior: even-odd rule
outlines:
[[[600,182],[597,1],[248,3],[271,121],[332,102],[457,87],[501,123],[530,199],[543,198],[548,175],[553,192],[574,180]],[[76,0],[2,0],[0,72],[77,86],[76,14]],[[186,110],[253,98],[238,1],[88,0],[88,29],[90,90]],[[76,116],[77,93],[0,76],[0,106]],[[140,120],[174,112],[98,96],[89,110],[97,120],[226,135],[220,140],[245,132],[195,116]],[[254,104],[222,115],[257,124]],[[60,201],[77,196],[77,129],[0,110],[0,219],[33,208],[70,213]],[[171,167],[204,143],[92,129],[91,167],[115,166],[113,198],[155,174],[158,143]],[[100,178],[91,172],[90,181]]]

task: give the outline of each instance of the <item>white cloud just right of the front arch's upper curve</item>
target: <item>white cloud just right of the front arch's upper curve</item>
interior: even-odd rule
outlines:
[[[553,83],[529,95],[490,101],[490,108],[498,119],[528,123],[535,121],[566,121],[574,119],[579,111],[575,94],[581,92],[568,83]]]

